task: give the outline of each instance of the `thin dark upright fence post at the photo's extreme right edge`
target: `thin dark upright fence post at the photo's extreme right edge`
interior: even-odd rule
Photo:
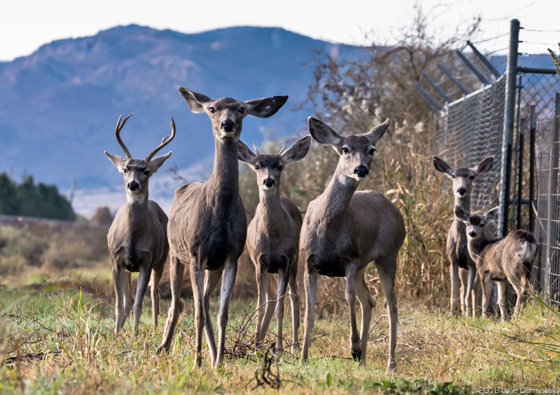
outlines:
[[[544,275],[544,290],[545,290],[545,302],[550,302],[550,267],[552,256],[554,255],[554,241],[556,240],[556,235],[552,231],[552,226],[556,220],[556,188],[557,188],[557,166],[559,158],[559,150],[556,146],[556,142],[559,140],[560,125],[558,124],[558,117],[560,116],[560,93],[556,94],[556,110],[554,111],[554,120],[552,121],[552,138],[550,142],[550,157],[548,162],[548,194],[546,197],[546,260],[543,267]],[[554,202],[552,199],[554,198]]]

